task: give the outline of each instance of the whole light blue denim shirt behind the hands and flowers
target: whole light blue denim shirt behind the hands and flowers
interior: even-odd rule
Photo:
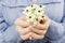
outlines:
[[[23,9],[30,4],[31,0],[0,0],[0,43],[16,43],[21,40],[14,22],[24,15]],[[46,5],[46,14],[51,24],[44,39],[27,43],[65,43],[64,0],[37,0],[36,4]]]

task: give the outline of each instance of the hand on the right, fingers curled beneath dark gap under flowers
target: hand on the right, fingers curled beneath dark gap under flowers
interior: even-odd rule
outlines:
[[[50,19],[48,16],[46,16],[44,20],[40,20],[39,24],[32,25],[30,40],[43,39],[49,26]]]

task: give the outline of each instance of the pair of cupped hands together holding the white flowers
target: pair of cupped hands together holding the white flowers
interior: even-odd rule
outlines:
[[[49,28],[50,19],[40,20],[38,25],[26,22],[25,17],[20,17],[15,20],[16,31],[20,32],[23,40],[38,40],[43,39]]]

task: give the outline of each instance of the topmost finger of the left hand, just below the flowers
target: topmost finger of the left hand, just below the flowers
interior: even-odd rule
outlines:
[[[22,17],[20,17],[20,18],[17,18],[16,20],[15,20],[15,25],[18,25],[18,26],[22,26],[22,27],[28,27],[28,26],[30,26],[32,23],[28,23],[28,22],[26,22],[26,19],[25,18],[22,18]]]

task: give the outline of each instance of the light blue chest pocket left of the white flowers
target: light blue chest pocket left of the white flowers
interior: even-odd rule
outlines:
[[[13,25],[17,17],[23,16],[23,9],[26,8],[26,5],[1,5],[3,18],[9,25]]]

